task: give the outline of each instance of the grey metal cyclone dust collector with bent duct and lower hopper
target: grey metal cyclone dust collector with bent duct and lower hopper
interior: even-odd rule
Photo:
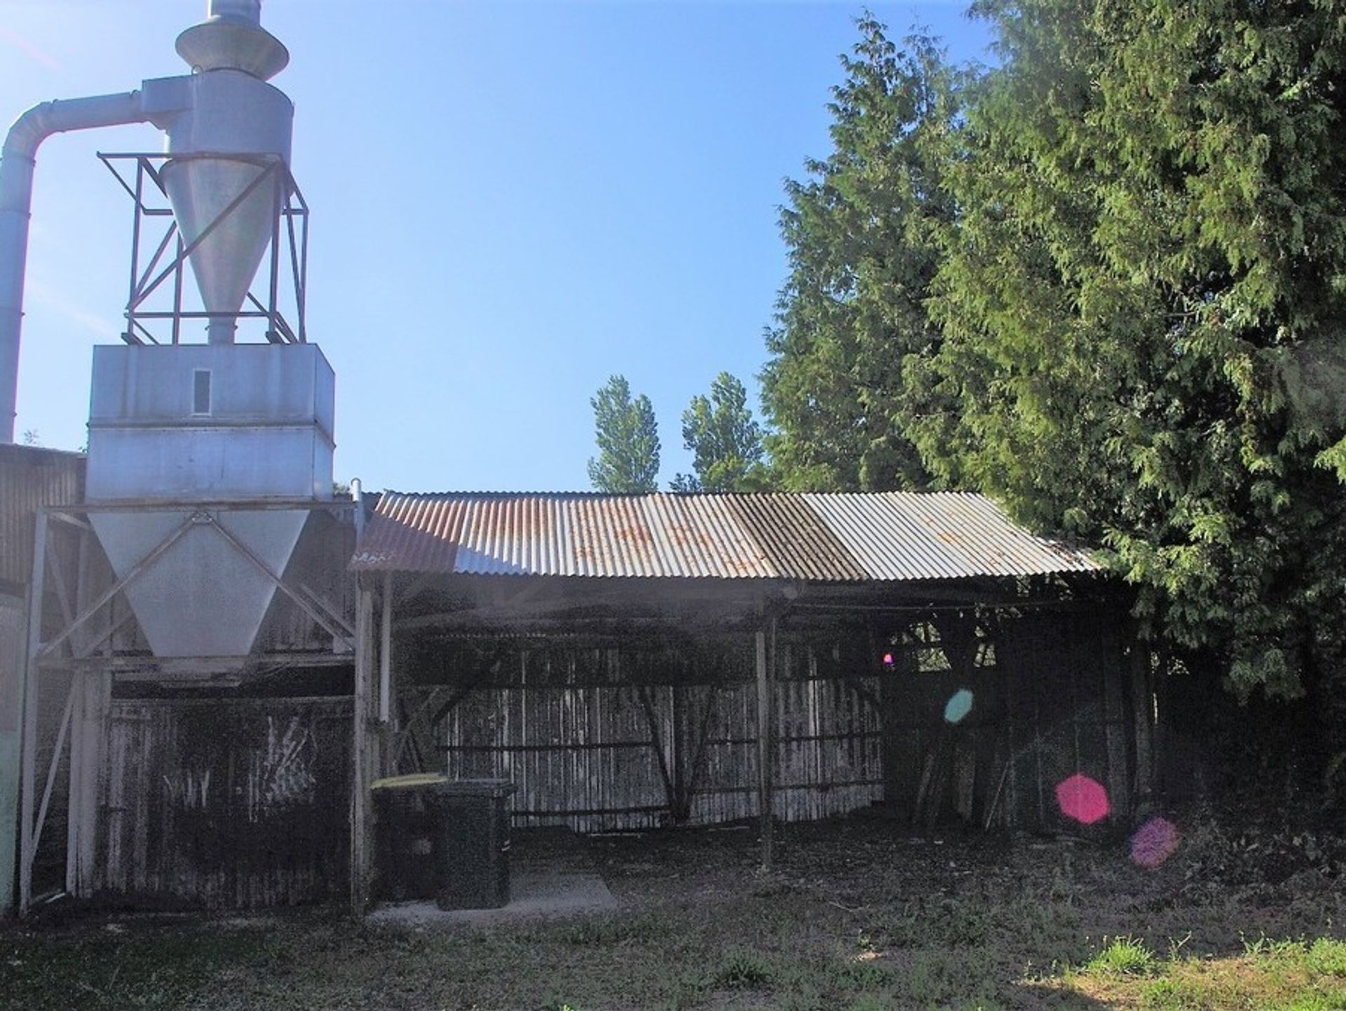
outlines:
[[[296,247],[293,106],[267,83],[288,52],[261,27],[260,0],[211,0],[207,19],[176,48],[188,75],[46,102],[9,132],[0,161],[0,441],[13,438],[38,145],[59,130],[152,122],[166,134],[162,155],[109,163],[118,176],[133,169],[122,183],[136,198],[137,225],[125,344],[94,350],[86,499],[153,655],[213,657],[227,668],[253,648],[306,503],[331,499],[334,378],[303,325],[307,241]],[[171,208],[152,254],[139,216],[151,196]],[[268,292],[257,298],[250,286],[268,249]],[[296,321],[276,308],[281,261],[295,268]],[[199,311],[184,308],[184,268]],[[151,312],[151,290],[174,284],[172,305]],[[244,341],[240,320],[260,320],[264,340]],[[171,335],[156,339],[156,323],[171,324]],[[201,323],[203,335],[194,333]]]

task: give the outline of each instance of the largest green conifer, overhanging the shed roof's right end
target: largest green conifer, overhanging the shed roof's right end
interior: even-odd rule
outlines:
[[[1240,694],[1341,670],[1346,23],[1334,4],[984,0],[907,433],[1104,540]],[[1334,469],[1335,468],[1335,469]]]

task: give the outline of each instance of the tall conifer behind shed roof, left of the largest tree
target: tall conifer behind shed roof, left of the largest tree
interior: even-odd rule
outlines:
[[[899,50],[872,16],[843,56],[832,144],[786,184],[781,233],[790,273],[767,333],[763,403],[769,449],[793,489],[921,488],[929,475],[905,419],[930,410],[905,374],[940,341],[925,308],[938,266],[937,223],[961,74],[934,40]]]

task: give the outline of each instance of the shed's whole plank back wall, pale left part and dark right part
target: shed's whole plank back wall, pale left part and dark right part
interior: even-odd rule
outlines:
[[[1098,608],[907,617],[830,640],[782,635],[777,816],[884,801],[913,827],[1057,831],[1077,827],[1055,799],[1077,773],[1128,811],[1136,770],[1124,629],[1123,613]],[[520,825],[590,832],[758,813],[746,644],[502,639],[447,643],[436,663],[447,717],[413,750],[450,776],[513,780]],[[408,711],[425,711],[417,692],[429,691],[413,690]],[[970,710],[946,719],[960,691]]]

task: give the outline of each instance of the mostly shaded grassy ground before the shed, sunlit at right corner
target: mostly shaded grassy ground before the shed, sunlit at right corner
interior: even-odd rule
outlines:
[[[1158,871],[1124,840],[941,844],[883,823],[781,835],[765,877],[747,832],[594,840],[586,859],[622,912],[565,921],[26,924],[0,933],[0,1007],[1346,1008],[1330,862],[1273,882],[1284,856],[1257,873],[1199,832]]]

